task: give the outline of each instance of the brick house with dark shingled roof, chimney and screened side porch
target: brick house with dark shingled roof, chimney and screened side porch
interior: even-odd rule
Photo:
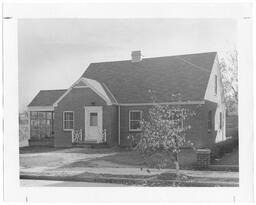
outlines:
[[[133,51],[131,60],[91,63],[68,89],[40,91],[28,105],[30,145],[69,147],[79,139],[126,146],[153,105],[149,90],[162,104],[196,110],[187,137],[197,147],[225,140],[216,52],[142,59]],[[182,98],[170,101],[168,93],[176,92]]]

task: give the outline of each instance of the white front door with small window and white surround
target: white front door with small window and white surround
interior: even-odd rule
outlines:
[[[85,107],[85,142],[102,142],[102,107]]]

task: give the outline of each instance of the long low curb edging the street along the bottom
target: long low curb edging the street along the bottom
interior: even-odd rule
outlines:
[[[74,181],[74,182],[96,182],[96,183],[114,183],[126,185],[143,186],[179,186],[179,187],[238,187],[238,182],[209,182],[209,181],[180,181],[180,180],[159,180],[159,179],[131,179],[115,177],[62,177],[62,176],[39,176],[39,175],[20,175],[20,179],[34,180],[53,180],[53,181]]]

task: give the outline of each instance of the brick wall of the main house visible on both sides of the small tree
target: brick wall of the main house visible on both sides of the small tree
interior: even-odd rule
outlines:
[[[147,119],[148,111],[152,106],[122,106],[120,108],[120,145],[128,146],[128,135],[140,134],[139,131],[129,131],[129,110],[142,110],[142,118]],[[196,147],[210,147],[215,141],[216,131],[214,130],[215,121],[214,115],[212,115],[212,131],[208,132],[208,112],[216,112],[217,104],[206,101],[203,105],[184,105],[184,107],[194,111],[196,113],[191,119],[185,122],[185,125],[191,125],[191,129],[187,132],[186,140],[190,140]]]

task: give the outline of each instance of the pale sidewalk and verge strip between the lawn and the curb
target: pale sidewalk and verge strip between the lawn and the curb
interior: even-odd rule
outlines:
[[[69,169],[47,169],[46,167],[24,168],[21,167],[20,177],[22,179],[44,179],[63,181],[85,181],[118,184],[134,184],[145,186],[238,186],[238,172],[224,171],[194,171],[181,170],[184,180],[162,179],[161,177],[175,175],[173,169],[140,169],[140,168],[69,168]]]

